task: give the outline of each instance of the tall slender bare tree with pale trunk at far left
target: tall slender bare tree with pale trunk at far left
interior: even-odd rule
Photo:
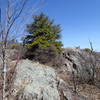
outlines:
[[[9,38],[16,38],[15,33],[20,31],[19,28],[26,23],[26,18],[29,19],[29,15],[33,14],[34,10],[37,10],[44,0],[38,0],[35,3],[35,8],[28,8],[28,11],[25,10],[27,8],[27,3],[31,0],[4,0],[5,5],[1,5],[0,7],[0,43],[1,43],[1,54],[0,57],[2,59],[3,66],[3,94],[2,100],[7,100],[6,98],[6,74],[7,74],[7,49]],[[4,4],[4,3],[3,3]],[[27,14],[29,12],[29,14]],[[16,26],[18,25],[18,27]],[[15,29],[16,28],[16,29]],[[21,27],[22,28],[22,27]],[[16,32],[14,32],[16,31]],[[19,34],[18,34],[19,36]]]

